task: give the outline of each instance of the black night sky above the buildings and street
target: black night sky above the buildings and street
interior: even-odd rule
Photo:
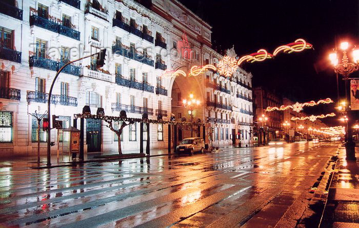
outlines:
[[[275,59],[245,63],[242,67],[252,72],[253,86],[275,89],[294,101],[327,97],[337,100],[336,77],[328,54],[343,39],[359,46],[358,0],[180,2],[213,27],[213,48],[225,50],[234,44],[238,56],[261,48],[272,53],[280,45],[304,38],[313,44],[314,50],[281,53]],[[356,72],[351,76],[358,75]],[[339,86],[344,96],[341,77]],[[321,106],[306,111],[334,111],[334,105]]]

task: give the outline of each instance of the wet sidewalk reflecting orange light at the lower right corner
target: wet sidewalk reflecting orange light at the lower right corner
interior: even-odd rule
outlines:
[[[359,227],[359,148],[356,162],[340,150],[320,227]]]

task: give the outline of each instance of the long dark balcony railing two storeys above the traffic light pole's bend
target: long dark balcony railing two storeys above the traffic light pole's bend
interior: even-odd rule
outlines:
[[[69,27],[63,26],[61,24],[57,24],[52,20],[48,20],[41,16],[31,15],[30,16],[30,26],[38,26],[43,29],[50,30],[55,33],[62,34],[64,36],[68,36],[70,38],[80,40],[80,32],[71,29]]]

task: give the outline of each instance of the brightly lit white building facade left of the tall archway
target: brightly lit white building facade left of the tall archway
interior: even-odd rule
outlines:
[[[46,132],[37,139],[37,123],[28,115],[47,110],[47,93],[56,71],[65,62],[107,49],[105,66],[87,58],[66,67],[52,92],[51,114],[64,126],[84,105],[96,113],[141,118],[148,113],[164,119],[171,113],[170,81],[159,76],[167,69],[172,24],[148,8],[130,1],[43,0],[14,1],[0,13],[2,29],[0,150],[2,156],[35,155],[37,140],[46,151]],[[4,42],[5,41],[5,42]],[[85,121],[85,151],[117,151],[116,135],[98,120]],[[116,124],[115,124],[116,127]],[[167,126],[150,125],[150,147],[167,148]],[[79,121],[77,124],[79,128]],[[144,137],[146,139],[146,137]],[[59,135],[60,151],[62,135]],[[139,149],[139,124],[124,129],[123,150]],[[57,149],[57,132],[51,141]],[[145,142],[144,142],[145,144]]]

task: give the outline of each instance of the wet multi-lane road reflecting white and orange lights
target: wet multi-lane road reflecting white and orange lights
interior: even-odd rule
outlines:
[[[337,144],[227,148],[51,170],[0,163],[0,222],[27,227],[273,227]],[[1,226],[1,225],[0,225]]]

